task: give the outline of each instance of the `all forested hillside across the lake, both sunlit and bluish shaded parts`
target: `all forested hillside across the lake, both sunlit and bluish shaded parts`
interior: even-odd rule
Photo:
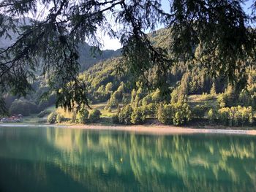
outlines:
[[[148,35],[156,47],[166,49],[172,41],[165,38],[167,33],[170,33],[170,30],[160,29]],[[80,60],[86,61],[89,66],[97,59],[99,61],[99,58],[91,58],[89,61],[90,48],[88,45],[82,47],[80,50],[85,54],[82,54]],[[200,52],[199,47],[195,47],[195,54],[197,52]],[[89,104],[94,106],[104,103],[100,110],[112,117],[114,123],[138,124],[148,119],[157,119],[161,123],[174,125],[199,120],[198,122],[204,123],[207,121],[207,123],[244,126],[252,125],[254,122],[253,111],[256,107],[254,69],[246,69],[244,80],[247,85],[246,88],[240,88],[238,85],[229,84],[225,76],[212,77],[203,70],[200,62],[195,62],[193,66],[180,62],[170,66],[167,76],[163,77],[166,87],[163,92],[154,87],[154,80],[158,79],[156,76],[161,76],[157,68],[152,68],[145,79],[137,78],[124,67],[122,57],[113,58],[119,53],[120,51],[104,51],[101,57],[105,55],[110,59],[100,61],[80,73],[80,80],[86,83]],[[82,69],[86,68],[87,66],[82,65]],[[27,100],[14,101],[14,97],[6,96],[10,113],[22,113],[19,110],[27,107],[28,114],[24,115],[39,112],[41,116],[45,115],[47,113],[45,108],[54,104],[55,96],[52,94],[46,101],[39,100],[40,93],[47,90],[42,78],[34,82],[34,90],[35,93],[26,98]],[[34,107],[37,110],[34,110]],[[57,113],[51,115],[54,122]],[[89,118],[89,112],[85,109],[75,115],[77,117],[71,119],[73,122],[83,123]],[[61,119],[60,115],[59,119]]]

